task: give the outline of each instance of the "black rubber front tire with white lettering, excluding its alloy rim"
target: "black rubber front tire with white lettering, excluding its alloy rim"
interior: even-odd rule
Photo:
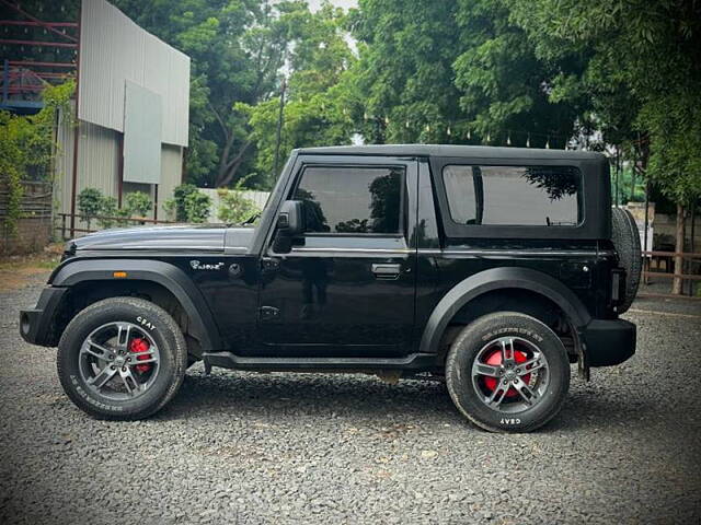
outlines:
[[[80,369],[83,342],[111,323],[145,326],[143,331],[158,347],[154,377],[133,399],[112,399],[93,392]],[[177,324],[163,308],[142,299],[112,298],[88,306],[69,323],[58,343],[57,369],[64,390],[80,409],[97,419],[131,421],[153,415],[177,393],[186,366],[187,348]]]

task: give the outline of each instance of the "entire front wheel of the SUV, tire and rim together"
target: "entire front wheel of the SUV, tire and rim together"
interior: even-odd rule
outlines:
[[[137,420],[180,388],[187,349],[173,318],[135,298],[99,301],[69,323],[58,343],[64,390],[97,419]]]

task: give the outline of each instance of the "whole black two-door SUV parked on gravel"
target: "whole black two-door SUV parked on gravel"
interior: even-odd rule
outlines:
[[[71,241],[26,341],[68,396],[139,419],[185,369],[445,377],[492,431],[554,417],[571,363],[621,363],[640,240],[597,153],[462,145],[292,152],[257,225]],[[417,402],[420,400],[417,399]]]

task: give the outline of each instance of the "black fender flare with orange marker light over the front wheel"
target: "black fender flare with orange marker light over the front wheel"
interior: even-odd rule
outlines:
[[[207,302],[192,279],[171,264],[143,259],[69,259],[51,275],[49,283],[70,288],[85,281],[114,282],[114,271],[127,272],[120,281],[151,281],[165,288],[185,310],[191,331],[199,340],[203,352],[222,348],[219,329]]]

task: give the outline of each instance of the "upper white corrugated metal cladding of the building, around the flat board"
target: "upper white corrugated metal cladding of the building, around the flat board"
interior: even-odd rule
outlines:
[[[79,117],[124,130],[125,81],[162,96],[162,140],[187,145],[189,57],[104,0],[82,0]]]

